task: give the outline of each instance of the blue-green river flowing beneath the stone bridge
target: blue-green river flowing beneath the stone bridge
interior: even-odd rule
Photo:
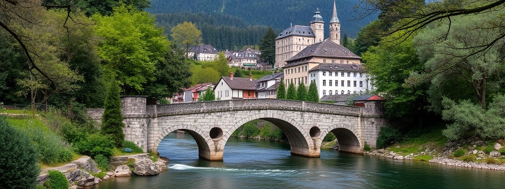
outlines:
[[[504,188],[505,171],[393,160],[321,149],[290,155],[289,145],[231,137],[224,161],[198,159],[196,142],[171,133],[160,143],[169,169],[155,176],[106,180],[92,188]]]

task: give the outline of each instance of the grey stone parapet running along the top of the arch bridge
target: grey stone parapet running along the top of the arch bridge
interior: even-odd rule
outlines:
[[[149,108],[151,109],[151,108]],[[290,110],[335,115],[361,116],[365,108],[335,104],[315,103],[281,99],[243,99],[220,100],[208,102],[192,102],[157,105],[156,113],[148,110],[151,116],[184,115],[195,113],[211,113],[240,110]],[[368,113],[365,113],[368,115]]]

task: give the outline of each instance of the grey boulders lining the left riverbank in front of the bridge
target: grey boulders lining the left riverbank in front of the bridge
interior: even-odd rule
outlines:
[[[103,178],[95,177],[102,170],[96,167],[96,163],[88,156],[82,156],[78,160],[69,164],[44,168],[37,177],[37,182],[43,184],[47,179],[47,170],[58,170],[62,172],[69,181],[70,188],[80,188],[90,186],[108,180],[113,177],[136,175],[155,175],[166,171],[168,159],[158,158],[156,162],[150,159],[149,154],[134,154],[127,156],[111,157],[109,161],[109,171]]]

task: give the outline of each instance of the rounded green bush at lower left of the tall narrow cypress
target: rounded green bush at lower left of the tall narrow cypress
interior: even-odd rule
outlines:
[[[91,156],[92,158],[98,154],[111,157],[114,153],[114,143],[109,136],[95,133],[88,136],[85,140],[76,143],[75,149],[78,153]]]

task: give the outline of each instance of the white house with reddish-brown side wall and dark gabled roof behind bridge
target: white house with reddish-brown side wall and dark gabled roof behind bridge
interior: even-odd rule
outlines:
[[[258,82],[252,80],[252,75],[249,78],[234,78],[233,73],[230,73],[230,77],[221,77],[214,87],[214,93],[216,99],[220,100],[256,98],[257,86]]]

